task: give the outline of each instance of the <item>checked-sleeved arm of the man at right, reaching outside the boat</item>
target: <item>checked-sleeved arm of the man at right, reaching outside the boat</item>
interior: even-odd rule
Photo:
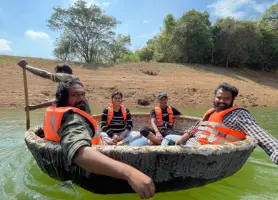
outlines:
[[[278,165],[278,140],[261,128],[245,110],[241,110],[236,122],[243,132],[257,140],[258,145],[267,153],[272,162]]]

